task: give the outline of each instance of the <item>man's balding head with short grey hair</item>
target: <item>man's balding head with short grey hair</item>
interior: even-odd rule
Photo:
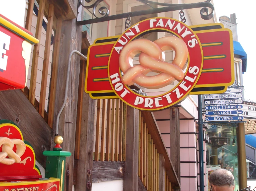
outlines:
[[[212,191],[233,191],[235,190],[234,177],[226,169],[214,170],[209,176]]]

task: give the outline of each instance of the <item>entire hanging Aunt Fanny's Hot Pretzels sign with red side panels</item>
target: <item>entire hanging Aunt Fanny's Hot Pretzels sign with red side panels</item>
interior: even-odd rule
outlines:
[[[174,36],[155,41],[138,39],[150,32]],[[166,50],[175,51],[172,63]],[[139,54],[138,65],[133,58]],[[223,93],[234,82],[232,33],[222,24],[186,24],[171,18],[150,18],[134,24],[121,36],[96,39],[88,49],[85,91],[94,99],[120,98],[140,110],[174,106],[189,94]],[[158,73],[155,76],[147,75]],[[131,90],[133,84],[159,89],[177,85],[158,96]]]

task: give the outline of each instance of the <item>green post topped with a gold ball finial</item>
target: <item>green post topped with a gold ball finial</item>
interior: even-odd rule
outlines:
[[[60,144],[63,142],[63,138],[61,136],[56,136],[54,142],[56,146],[53,148],[53,151],[43,152],[43,155],[46,156],[45,178],[59,178],[60,191],[63,191],[66,157],[70,157],[71,152],[62,151]]]

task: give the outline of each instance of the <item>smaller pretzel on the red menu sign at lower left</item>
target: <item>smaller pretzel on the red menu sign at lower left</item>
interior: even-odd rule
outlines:
[[[16,145],[17,151],[14,152],[12,149]],[[9,139],[7,137],[0,137],[0,147],[2,146],[2,152],[0,152],[0,163],[11,165],[20,163],[20,157],[26,150],[25,143],[20,139]],[[9,158],[6,158],[6,157]]]

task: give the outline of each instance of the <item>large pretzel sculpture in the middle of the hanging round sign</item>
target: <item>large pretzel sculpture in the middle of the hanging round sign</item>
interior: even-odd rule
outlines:
[[[174,50],[172,63],[165,62],[165,50]],[[139,56],[139,65],[133,66],[132,60]],[[138,39],[127,44],[120,53],[119,67],[124,73],[122,82],[131,86],[136,83],[144,88],[158,89],[167,86],[185,76],[183,68],[188,57],[186,43],[178,37],[163,37],[154,42]],[[157,72],[155,76],[145,76],[149,72]]]

